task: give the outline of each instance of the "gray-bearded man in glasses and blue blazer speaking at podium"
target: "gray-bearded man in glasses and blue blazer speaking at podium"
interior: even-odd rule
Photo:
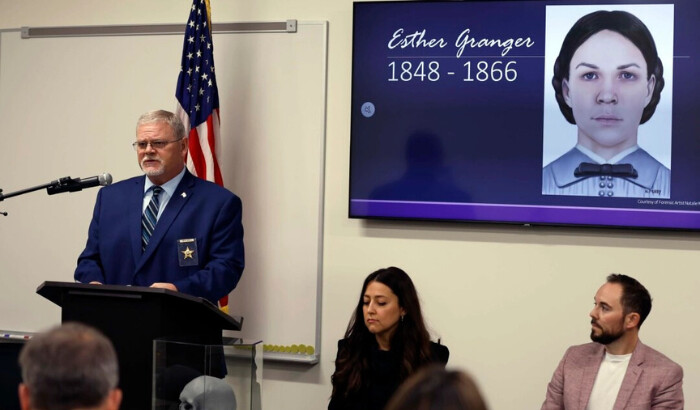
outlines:
[[[175,114],[143,114],[132,145],[145,175],[99,191],[75,279],[165,288],[216,304],[243,272],[241,200],[187,170],[188,138]]]

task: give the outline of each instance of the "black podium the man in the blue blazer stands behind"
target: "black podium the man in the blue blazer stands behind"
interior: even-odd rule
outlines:
[[[37,293],[61,306],[62,322],[94,326],[112,341],[121,408],[130,410],[151,408],[154,339],[221,344],[222,329],[240,330],[243,322],[206,299],[166,289],[44,282]]]

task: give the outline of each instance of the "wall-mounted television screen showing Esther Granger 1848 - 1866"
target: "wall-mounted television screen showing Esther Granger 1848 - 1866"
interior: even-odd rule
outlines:
[[[700,229],[700,2],[356,2],[349,215]]]

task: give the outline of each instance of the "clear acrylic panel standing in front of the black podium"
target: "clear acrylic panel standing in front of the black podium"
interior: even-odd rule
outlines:
[[[224,338],[221,345],[156,339],[156,410],[261,410],[262,341]]]

